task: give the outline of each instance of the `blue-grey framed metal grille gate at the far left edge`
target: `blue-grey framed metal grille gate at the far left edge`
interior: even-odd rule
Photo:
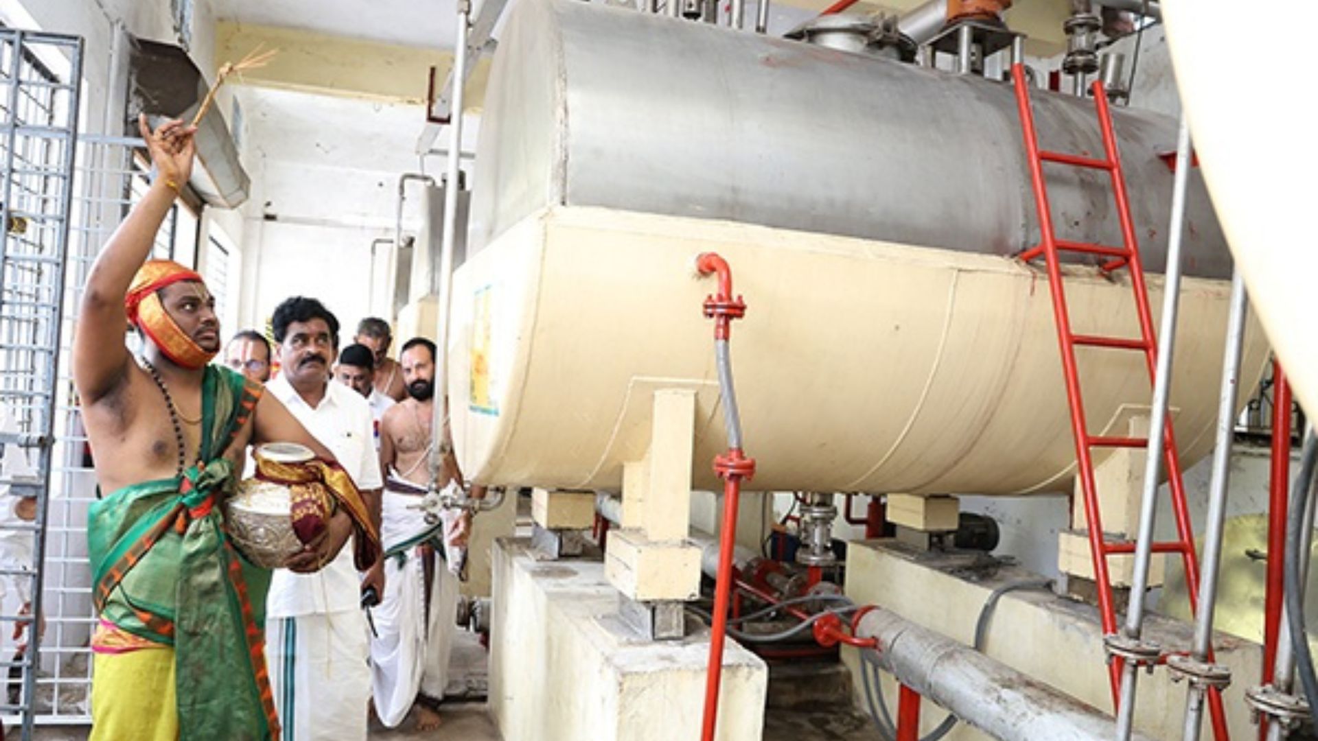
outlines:
[[[61,80],[42,57],[71,62]],[[43,614],[42,583],[51,469],[57,446],[55,378],[65,298],[82,40],[0,29],[0,713],[29,738],[40,666],[32,616]],[[32,510],[20,501],[34,502]],[[29,518],[30,517],[30,518]],[[12,626],[25,629],[21,645]],[[26,647],[24,647],[26,646]]]

